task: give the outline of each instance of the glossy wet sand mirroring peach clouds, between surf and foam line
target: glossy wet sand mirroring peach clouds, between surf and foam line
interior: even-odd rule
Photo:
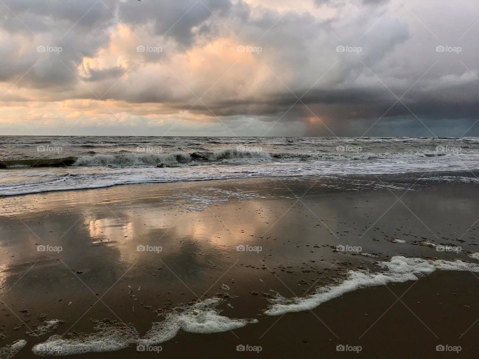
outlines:
[[[422,237],[438,239],[405,206],[388,210],[396,201],[388,189],[357,191],[351,185],[349,191],[331,179],[290,179],[287,186],[283,181],[132,185],[3,198],[0,298],[11,314],[5,328],[14,333],[20,320],[28,320],[19,312],[26,309],[30,319],[46,313],[77,331],[90,332],[90,318],[121,318],[145,332],[156,309],[217,293],[231,296],[232,317],[252,318],[266,306],[258,293],[301,296],[317,280],[392,255],[468,260],[466,254],[422,246]],[[223,186],[213,193],[258,195],[187,209],[189,196],[182,193],[202,193],[208,186]],[[454,241],[454,233],[477,219],[478,201],[459,187],[438,188],[406,193],[403,200],[428,227]],[[178,202],[166,200],[172,197]],[[432,202],[444,205],[431,208]],[[461,245],[475,250],[477,234],[471,230],[468,236],[471,243]],[[344,244],[376,256],[338,252]],[[38,251],[39,245],[61,250]]]

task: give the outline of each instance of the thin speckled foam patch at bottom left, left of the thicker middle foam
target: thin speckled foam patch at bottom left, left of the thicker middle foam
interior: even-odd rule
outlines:
[[[65,356],[90,352],[113,352],[136,343],[139,334],[131,324],[115,321],[94,321],[95,333],[69,334],[66,337],[54,335],[46,342],[35,345],[33,354],[39,356]]]

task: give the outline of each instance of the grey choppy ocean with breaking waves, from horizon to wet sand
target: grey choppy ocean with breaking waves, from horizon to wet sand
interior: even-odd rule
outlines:
[[[0,195],[120,184],[479,169],[479,138],[0,137]]]

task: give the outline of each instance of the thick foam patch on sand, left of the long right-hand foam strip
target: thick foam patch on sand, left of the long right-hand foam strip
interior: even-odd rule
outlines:
[[[220,298],[210,298],[191,306],[176,307],[165,316],[163,322],[153,323],[139,344],[153,346],[164,343],[173,339],[180,329],[195,334],[213,334],[258,322],[256,319],[232,319],[220,315],[221,311],[216,307],[223,301]]]

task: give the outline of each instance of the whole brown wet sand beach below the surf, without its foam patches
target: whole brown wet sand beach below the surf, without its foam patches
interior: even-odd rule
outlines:
[[[375,262],[392,256],[477,263],[468,256],[478,251],[477,184],[420,176],[124,185],[1,198],[0,347],[24,339],[15,358],[36,358],[33,345],[53,334],[91,333],[91,319],[132,323],[143,336],[176,305],[221,295],[229,297],[222,315],[258,323],[209,335],[180,331],[159,354],[131,345],[71,358],[456,356],[437,345],[461,346],[458,356],[476,358],[477,273],[435,272],[312,311],[263,314],[274,292],[307,295],[348,270],[376,271]],[[341,245],[375,257],[338,251]],[[26,336],[40,314],[65,323]],[[238,345],[261,352],[238,352]],[[361,352],[338,352],[338,345]]]

